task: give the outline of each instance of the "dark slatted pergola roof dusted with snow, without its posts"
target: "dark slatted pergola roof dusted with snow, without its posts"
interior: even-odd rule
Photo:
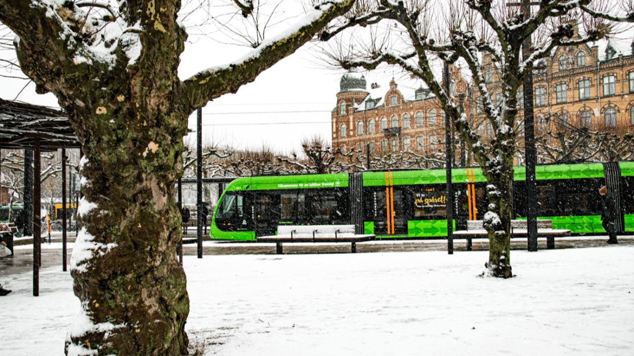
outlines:
[[[81,147],[62,111],[0,99],[0,148],[33,149],[36,137],[41,151]]]

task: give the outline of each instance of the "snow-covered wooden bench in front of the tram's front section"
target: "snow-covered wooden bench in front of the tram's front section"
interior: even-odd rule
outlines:
[[[261,236],[257,242],[275,243],[276,253],[281,255],[282,243],[351,243],[351,252],[356,252],[356,243],[370,241],[375,235],[357,235],[354,225],[280,225],[277,235]]]

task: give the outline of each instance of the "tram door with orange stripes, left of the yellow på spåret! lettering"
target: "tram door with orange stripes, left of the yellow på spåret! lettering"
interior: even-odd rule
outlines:
[[[385,172],[385,189],[373,191],[374,233],[376,235],[406,235],[405,191],[392,185],[391,172]]]

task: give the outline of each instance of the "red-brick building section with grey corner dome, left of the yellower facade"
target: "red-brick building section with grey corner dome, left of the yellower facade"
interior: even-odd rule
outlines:
[[[469,84],[460,77],[460,68],[450,68],[451,91],[463,98]],[[404,98],[394,79],[389,86],[370,84],[360,73],[344,74],[339,83],[337,106],[332,111],[332,144],[345,151],[351,148],[385,151],[424,151],[444,140],[444,111],[429,89],[420,87],[412,100]],[[458,103],[456,103],[458,104]],[[469,115],[469,107],[465,113]]]

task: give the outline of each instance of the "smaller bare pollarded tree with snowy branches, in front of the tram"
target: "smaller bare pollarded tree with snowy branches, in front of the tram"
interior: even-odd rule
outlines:
[[[524,14],[519,7],[507,7],[507,1],[501,0],[379,0],[374,7],[363,8],[358,3],[363,10],[321,35],[322,39],[329,39],[355,27],[354,33],[349,33],[351,43],[329,51],[330,61],[344,69],[372,70],[382,63],[396,65],[424,80],[436,95],[460,137],[470,146],[488,183],[484,226],[489,236],[490,276],[512,277],[511,184],[518,134],[515,123],[521,108],[518,92],[534,63],[550,56],[557,46],[595,41],[611,30],[600,20],[589,20],[590,16],[580,8],[591,2],[546,0]],[[434,14],[443,13],[444,17],[434,18]],[[585,25],[585,34],[574,33],[574,22]],[[356,27],[367,27],[370,34],[364,36]],[[522,53],[522,43],[531,35],[538,35],[536,42]],[[491,59],[491,67],[483,68],[484,58]],[[444,90],[448,84],[443,83],[444,76],[434,68],[437,59],[448,64],[463,63],[469,69],[474,90],[483,103],[483,114],[495,136],[489,144],[483,144],[475,127],[465,115],[460,115],[453,92]],[[489,89],[494,74],[499,83],[495,99]]]

